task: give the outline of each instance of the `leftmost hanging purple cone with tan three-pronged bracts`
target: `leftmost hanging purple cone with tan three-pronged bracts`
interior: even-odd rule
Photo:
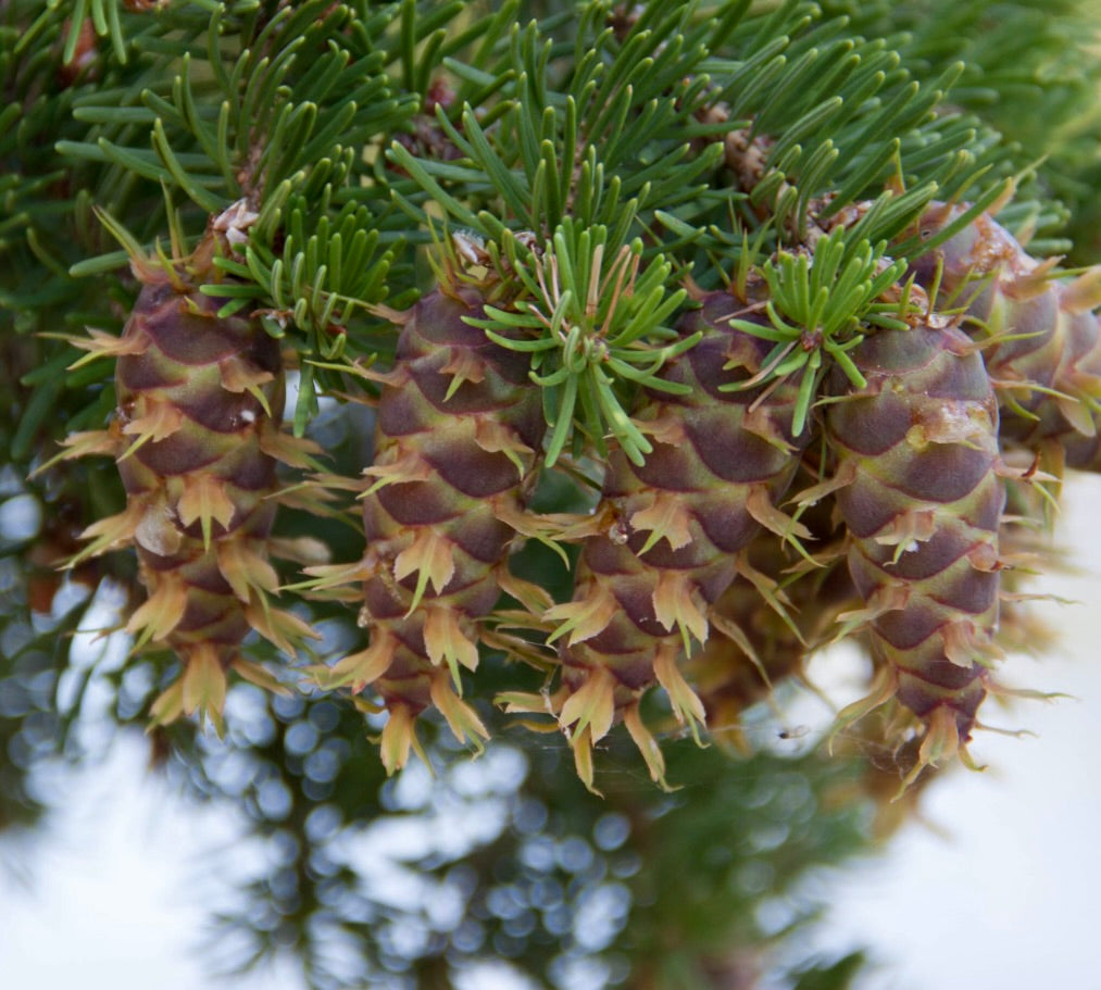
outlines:
[[[148,597],[127,631],[135,649],[167,646],[183,663],[154,703],[159,722],[199,711],[217,725],[231,666],[276,686],[240,655],[250,630],[292,653],[312,634],[270,606],[279,581],[268,561],[276,461],[301,463],[308,445],[280,434],[276,342],[244,313],[219,317],[226,301],[198,290],[217,278],[214,250],[208,237],[175,264],[135,259],[143,287],[122,336],[74,341],[117,358],[118,409],[108,429],[69,437],[67,456],[113,456],[127,508],[85,531],[91,543],[73,563],[137,548]]]

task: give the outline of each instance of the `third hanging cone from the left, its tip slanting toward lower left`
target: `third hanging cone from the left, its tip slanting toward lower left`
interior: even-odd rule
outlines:
[[[807,535],[775,508],[809,439],[792,435],[796,388],[787,382],[727,391],[760,370],[768,345],[729,326],[741,308],[715,293],[680,324],[704,333],[662,377],[687,394],[647,391],[633,418],[653,440],[643,465],[612,453],[601,504],[582,544],[574,600],[550,609],[560,622],[560,722],[578,773],[592,781],[592,744],[622,718],[655,780],[664,764],[639,716],[656,682],[694,728],[704,707],[678,668],[708,637],[708,610],[744,567],[741,552],[762,526]],[[569,535],[569,534],[565,534]]]

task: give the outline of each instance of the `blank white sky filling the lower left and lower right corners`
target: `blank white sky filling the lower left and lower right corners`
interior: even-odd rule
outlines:
[[[1033,590],[1078,599],[1037,605],[1065,628],[1057,653],[1013,657],[1004,679],[1077,700],[989,704],[986,720],[1038,739],[981,735],[983,774],[966,771],[926,795],[926,817],[889,851],[842,871],[818,944],[870,945],[882,964],[863,990],[1033,990],[1097,978],[1101,891],[1101,478],[1065,493],[1060,535],[1092,576],[1050,576]],[[813,671],[814,673],[814,671]],[[0,987],[34,990],[301,990],[293,972],[207,978],[200,947],[217,891],[196,863],[231,863],[231,817],[197,811],[145,772],[124,740],[94,772],[50,788],[61,813],[34,848],[0,844]],[[22,879],[21,879],[22,878]],[[486,975],[471,990],[511,986]]]

